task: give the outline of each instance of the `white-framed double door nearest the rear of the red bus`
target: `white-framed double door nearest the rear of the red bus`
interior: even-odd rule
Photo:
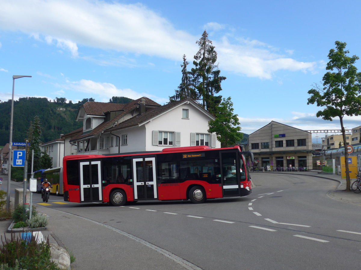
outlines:
[[[101,202],[100,161],[80,162],[80,201]]]

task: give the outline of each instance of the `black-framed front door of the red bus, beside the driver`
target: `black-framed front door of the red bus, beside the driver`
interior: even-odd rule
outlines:
[[[222,152],[222,184],[223,196],[232,197],[240,195],[239,170],[236,152]]]

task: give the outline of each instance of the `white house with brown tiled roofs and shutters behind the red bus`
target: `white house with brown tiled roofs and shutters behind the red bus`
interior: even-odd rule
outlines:
[[[159,152],[169,147],[221,147],[208,133],[215,117],[191,99],[161,106],[143,97],[127,104],[86,102],[77,120],[83,129],[62,136],[65,155]],[[71,146],[77,146],[76,151]]]

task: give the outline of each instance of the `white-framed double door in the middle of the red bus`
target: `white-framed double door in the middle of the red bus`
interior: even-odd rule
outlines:
[[[157,199],[156,158],[133,159],[134,200]]]

